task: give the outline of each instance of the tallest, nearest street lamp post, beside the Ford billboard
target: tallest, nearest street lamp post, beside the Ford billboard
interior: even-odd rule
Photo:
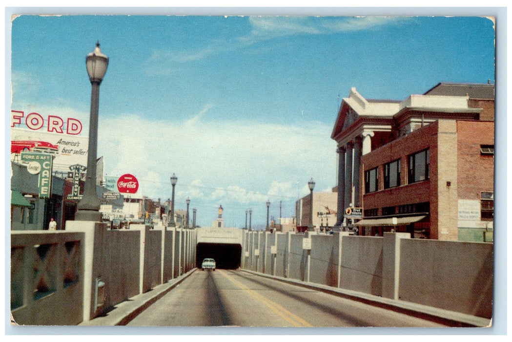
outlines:
[[[103,80],[109,57],[101,53],[99,42],[86,57],[87,73],[91,81],[91,115],[89,119],[89,151],[87,156],[87,177],[83,187],[83,197],[78,203],[75,214],[77,221],[101,222],[100,202],[96,195],[96,154],[98,148],[98,109],[99,85]]]

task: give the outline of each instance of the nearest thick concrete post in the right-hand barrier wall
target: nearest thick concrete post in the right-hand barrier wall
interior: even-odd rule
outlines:
[[[410,233],[384,233],[382,246],[382,296],[398,298],[400,280],[400,240],[411,238]]]

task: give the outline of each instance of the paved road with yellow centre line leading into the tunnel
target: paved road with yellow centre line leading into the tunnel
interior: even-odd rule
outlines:
[[[198,270],[128,326],[443,327],[239,270]]]

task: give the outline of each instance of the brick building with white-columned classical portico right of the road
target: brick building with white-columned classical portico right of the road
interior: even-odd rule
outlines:
[[[494,85],[440,83],[403,101],[368,100],[352,88],[332,138],[336,226],[492,240]],[[345,218],[348,207],[364,218]]]

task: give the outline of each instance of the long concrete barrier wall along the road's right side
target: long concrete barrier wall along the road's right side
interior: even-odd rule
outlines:
[[[274,234],[268,234],[268,250]],[[264,233],[247,232],[247,269],[262,272],[261,263],[255,266],[258,258],[251,257],[257,248],[263,255],[262,236]],[[308,236],[309,251],[303,249],[303,239]],[[267,274],[275,272],[315,284],[484,318],[492,316],[493,244],[411,239],[405,233],[385,233],[384,237],[351,236],[347,232],[278,233],[276,237],[275,269],[269,269],[271,263],[267,262]]]

